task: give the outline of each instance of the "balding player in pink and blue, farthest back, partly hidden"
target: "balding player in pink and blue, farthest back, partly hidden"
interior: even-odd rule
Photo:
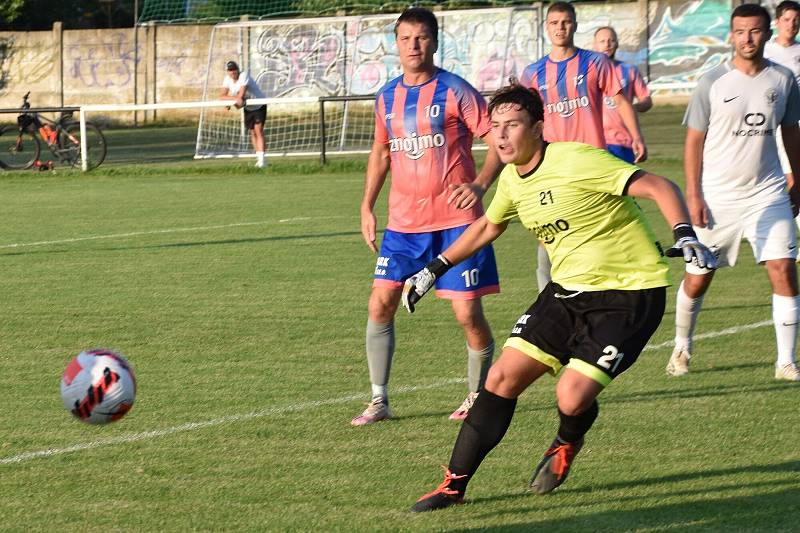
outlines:
[[[653,107],[650,90],[635,65],[617,61],[615,56],[618,48],[619,39],[614,28],[603,26],[595,30],[594,49],[608,56],[622,86],[622,94],[631,102],[634,110],[644,113]],[[631,146],[633,137],[622,122],[622,117],[617,111],[617,104],[609,97],[605,97],[603,102],[605,104],[603,106],[603,130],[608,151],[628,163],[633,163],[636,159],[636,154],[633,153]]]

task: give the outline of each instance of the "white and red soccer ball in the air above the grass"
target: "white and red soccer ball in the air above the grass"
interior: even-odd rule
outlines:
[[[122,355],[102,348],[85,350],[70,361],[61,378],[61,401],[89,424],[119,420],[133,407],[136,378]]]

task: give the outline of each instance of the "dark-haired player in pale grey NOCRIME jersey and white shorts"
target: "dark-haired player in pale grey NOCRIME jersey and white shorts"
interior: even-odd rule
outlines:
[[[797,237],[793,223],[800,188],[778,161],[775,131],[794,174],[800,170],[800,91],[789,69],[764,59],[772,32],[767,11],[742,4],[731,16],[732,60],[704,75],[686,110],[686,202],[698,238],[720,268],[733,266],[742,238],[772,284],[778,343],[775,378],[800,382],[795,347],[798,312]],[[788,186],[788,189],[787,189]],[[697,315],[714,272],[687,264],[678,288],[675,350],[667,374],[689,371]]]

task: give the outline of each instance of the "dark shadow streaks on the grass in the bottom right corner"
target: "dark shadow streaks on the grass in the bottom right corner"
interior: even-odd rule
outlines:
[[[795,473],[786,478],[787,474]],[[739,483],[728,483],[725,486],[714,485],[728,476],[741,474],[778,474],[783,478],[774,481],[748,483],[746,496],[722,496],[725,490],[741,490]],[[503,509],[492,512],[487,508],[482,519],[520,515],[527,517],[535,513],[537,508],[545,511],[564,505],[564,496],[596,495],[598,499],[614,502],[641,501],[636,509],[608,510],[596,513],[577,512],[574,516],[556,519],[531,520],[507,526],[476,527],[452,529],[451,531],[797,531],[797,523],[792,514],[798,495],[800,495],[800,461],[786,461],[774,464],[748,465],[730,468],[707,469],[657,477],[643,477],[627,481],[598,484],[569,490],[567,486],[550,496],[535,496],[528,493],[506,493],[498,496],[468,499],[472,505],[491,504],[493,502],[522,503],[526,499],[535,499],[535,506],[524,506],[521,509]],[[719,478],[719,479],[715,479]],[[711,485],[686,490],[685,483],[710,481]],[[683,497],[681,503],[659,504],[658,495],[648,489],[655,485],[667,485],[664,492]],[[669,490],[674,485],[674,490]],[[694,485],[694,487],[697,487]],[[566,490],[565,490],[566,489]],[[620,498],[617,495],[603,495],[604,491],[641,492],[628,494]],[[713,494],[713,498],[708,496]],[[559,501],[561,500],[561,501]],[[545,507],[541,504],[544,503]],[[552,505],[550,505],[552,504]],[[574,505],[574,503],[573,503]],[[532,508],[533,507],[533,508]],[[449,511],[445,511],[449,512]],[[757,524],[757,525],[756,525]]]

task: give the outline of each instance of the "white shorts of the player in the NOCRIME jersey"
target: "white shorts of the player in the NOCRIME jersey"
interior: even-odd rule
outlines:
[[[717,268],[734,266],[739,245],[747,239],[757,263],[772,259],[797,259],[797,230],[788,196],[757,207],[720,209],[709,206],[707,227],[694,230],[700,242],[717,256]],[[709,270],[686,264],[689,274],[703,275]]]

